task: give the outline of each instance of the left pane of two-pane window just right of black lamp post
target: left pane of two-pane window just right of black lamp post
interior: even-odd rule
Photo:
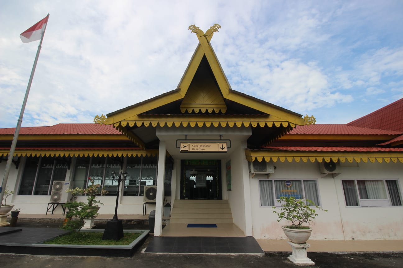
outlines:
[[[141,157],[127,158],[127,177],[123,195],[139,195]]]

